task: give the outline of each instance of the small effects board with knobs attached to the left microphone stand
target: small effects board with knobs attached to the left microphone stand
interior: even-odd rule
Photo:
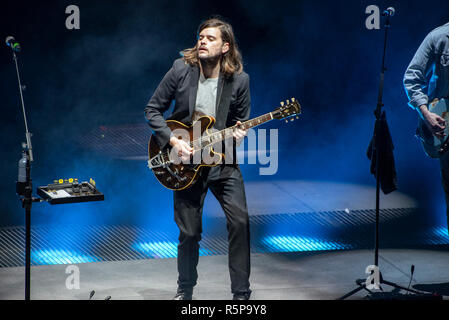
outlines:
[[[78,182],[78,179],[59,179],[45,187],[38,187],[37,194],[50,204],[102,201],[104,194],[95,187],[95,181]]]

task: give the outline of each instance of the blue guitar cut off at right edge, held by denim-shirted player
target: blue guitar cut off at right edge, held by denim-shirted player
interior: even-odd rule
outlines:
[[[449,150],[449,100],[435,99],[430,103],[429,111],[436,113],[446,121],[444,138],[437,138],[421,118],[419,118],[416,135],[421,140],[424,151],[429,157],[441,158]]]

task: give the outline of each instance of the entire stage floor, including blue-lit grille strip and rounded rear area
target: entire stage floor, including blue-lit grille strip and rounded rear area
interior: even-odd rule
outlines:
[[[365,269],[374,263],[372,186],[272,181],[246,189],[252,299],[337,299],[356,288],[356,279],[366,279]],[[381,203],[384,278],[407,287],[413,264],[412,286],[449,296],[447,229],[423,224],[425,215],[405,194],[382,195]],[[203,222],[194,299],[231,299],[226,221],[210,195]],[[172,299],[177,237],[177,230],[138,226],[33,226],[31,297],[87,300],[95,290],[94,299]],[[0,228],[0,300],[24,297],[23,239],[22,226]],[[68,289],[74,265],[80,288]],[[366,295],[362,290],[351,299]]]

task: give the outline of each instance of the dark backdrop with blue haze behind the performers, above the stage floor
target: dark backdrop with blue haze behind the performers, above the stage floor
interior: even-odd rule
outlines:
[[[80,8],[67,30],[65,8]],[[296,97],[300,120],[279,128],[279,171],[246,181],[308,179],[374,184],[366,149],[377,102],[383,30],[365,28],[365,8],[396,8],[387,52],[384,103],[395,144],[399,191],[416,198],[429,221],[445,225],[439,166],[414,138],[416,113],[402,78],[449,2],[427,1],[46,1],[2,3],[2,39],[21,43],[19,67],[33,136],[34,186],[93,177],[106,200],[33,206],[33,223],[137,224],[174,228],[171,191],[144,160],[123,160],[86,145],[98,128],[144,122],[143,108],[178,52],[192,47],[199,23],[220,14],[234,27],[251,77],[252,116]],[[24,125],[14,63],[0,49],[0,226],[24,224],[15,194]],[[97,130],[97,131],[95,131]],[[148,136],[151,134],[148,128]],[[352,195],[348,195],[351,197]],[[374,195],[373,195],[374,197]]]

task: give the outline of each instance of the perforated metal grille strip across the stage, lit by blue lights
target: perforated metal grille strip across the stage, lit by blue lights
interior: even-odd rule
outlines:
[[[381,245],[449,244],[445,228],[416,234],[408,230],[404,236],[398,234],[398,225],[410,219],[413,212],[413,209],[381,210],[385,233]],[[370,248],[374,219],[374,210],[252,216],[251,250],[253,253],[266,253]],[[227,254],[225,219],[210,220],[208,225],[218,227],[208,228],[203,234],[200,255]],[[284,228],[284,231],[273,233],[276,226]],[[177,237],[178,234],[130,226],[35,226],[31,233],[31,264],[175,258]],[[0,267],[25,264],[24,239],[24,227],[0,228]]]

